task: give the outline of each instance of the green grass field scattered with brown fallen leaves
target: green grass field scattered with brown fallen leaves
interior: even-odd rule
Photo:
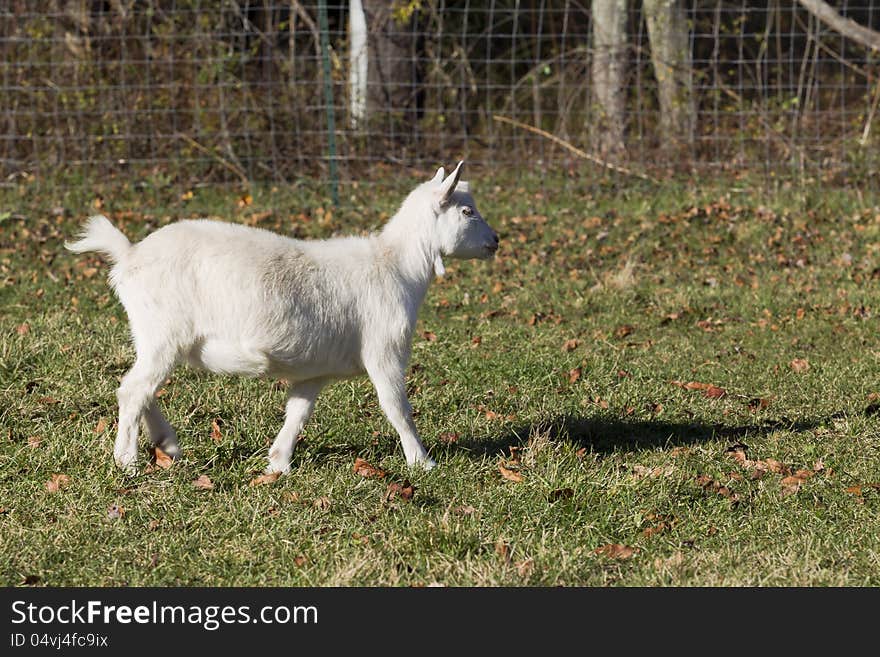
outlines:
[[[447,263],[408,379],[439,467],[407,470],[358,379],[262,485],[282,386],[185,368],[160,391],[184,458],[142,437],[139,473],[115,469],[127,323],[61,243],[99,206],[133,239],[203,214],[357,233],[403,188],[334,210],[306,188],[4,192],[0,583],[880,584],[876,197],[472,182],[501,250]]]

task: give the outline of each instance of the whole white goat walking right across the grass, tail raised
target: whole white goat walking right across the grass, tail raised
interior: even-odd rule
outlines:
[[[177,457],[174,429],[155,393],[180,361],[212,372],[289,382],[284,425],[267,472],[287,472],[321,389],[366,373],[400,435],[406,461],[428,456],[412,419],[405,373],[417,313],[443,256],[490,258],[498,236],[477,211],[462,162],[419,185],[368,237],[294,240],[209,220],[165,226],[137,244],[110,221],[89,219],[71,251],[115,264],[110,283],[137,351],[119,386],[113,456],[133,470],[143,417],[153,445]]]

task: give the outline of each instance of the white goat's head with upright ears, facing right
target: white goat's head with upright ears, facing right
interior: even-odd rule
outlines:
[[[477,210],[468,184],[459,180],[463,164],[459,162],[449,176],[440,167],[428,185],[440,253],[450,258],[491,258],[498,250],[498,235]],[[438,269],[442,270],[442,263]]]

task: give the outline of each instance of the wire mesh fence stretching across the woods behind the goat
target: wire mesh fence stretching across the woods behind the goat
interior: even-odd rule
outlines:
[[[880,58],[802,4],[5,0],[0,173],[346,181],[467,158],[870,180]],[[870,0],[828,4],[880,28]]]

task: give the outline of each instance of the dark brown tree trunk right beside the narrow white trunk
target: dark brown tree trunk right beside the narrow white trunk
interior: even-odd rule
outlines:
[[[362,3],[369,51],[367,115],[413,121],[419,110],[420,76],[412,17],[395,16],[395,3],[387,0]]]

